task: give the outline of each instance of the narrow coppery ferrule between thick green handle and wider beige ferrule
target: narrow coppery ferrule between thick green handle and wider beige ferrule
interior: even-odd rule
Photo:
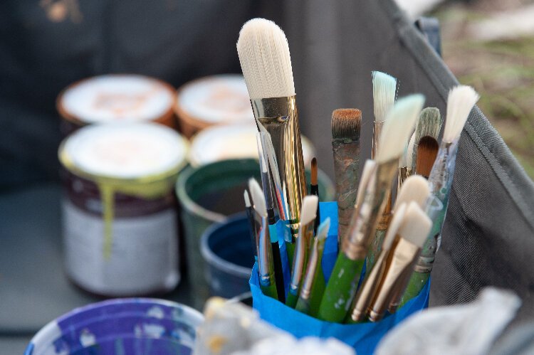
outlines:
[[[360,287],[360,290],[354,299],[354,303],[352,304],[352,312],[350,313],[350,318],[353,322],[361,322],[365,319],[367,309],[371,306],[379,282],[386,270],[388,256],[389,250],[382,250],[377,258],[375,266],[372,267],[371,272],[365,278],[362,287]]]

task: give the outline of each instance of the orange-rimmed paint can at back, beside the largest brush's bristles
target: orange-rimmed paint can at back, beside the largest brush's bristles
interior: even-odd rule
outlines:
[[[237,74],[207,76],[182,85],[174,112],[188,138],[214,124],[254,122],[245,80]]]

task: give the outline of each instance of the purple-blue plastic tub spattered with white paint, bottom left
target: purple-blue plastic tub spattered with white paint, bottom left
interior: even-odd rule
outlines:
[[[204,316],[150,298],[117,299],[73,309],[46,324],[25,355],[191,354]]]

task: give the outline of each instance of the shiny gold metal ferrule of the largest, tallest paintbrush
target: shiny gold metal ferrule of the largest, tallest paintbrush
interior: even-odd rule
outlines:
[[[306,180],[295,96],[253,99],[251,105],[256,123],[271,134],[282,189],[286,187],[288,211],[284,214],[296,237],[300,207],[306,194]]]

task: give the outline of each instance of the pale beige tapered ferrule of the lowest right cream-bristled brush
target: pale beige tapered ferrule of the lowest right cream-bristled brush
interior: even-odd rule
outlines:
[[[397,292],[397,284],[401,281],[404,272],[412,269],[420,250],[414,243],[404,238],[399,239],[394,248],[391,263],[382,278],[378,293],[369,310],[371,322],[377,322],[382,319],[389,307],[389,303]]]

